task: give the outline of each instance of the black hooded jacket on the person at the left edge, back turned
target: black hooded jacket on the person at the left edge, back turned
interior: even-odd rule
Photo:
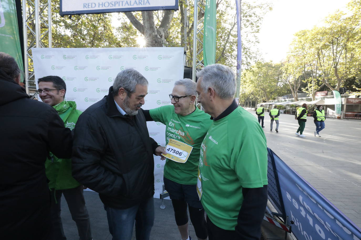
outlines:
[[[49,151],[71,157],[71,132],[53,107],[30,99],[1,69],[0,96],[0,238],[48,239],[44,163]]]

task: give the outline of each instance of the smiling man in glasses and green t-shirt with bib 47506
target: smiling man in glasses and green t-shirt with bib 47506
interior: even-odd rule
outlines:
[[[166,125],[166,144],[169,139],[181,141],[193,149],[187,162],[179,163],[169,158],[164,167],[164,186],[172,200],[175,222],[182,240],[188,236],[188,214],[194,226],[196,236],[206,239],[208,236],[204,209],[197,194],[197,173],[201,142],[212,121],[210,115],[196,106],[196,83],[185,78],[176,81],[169,98],[172,105],[144,110],[147,121],[161,122]]]

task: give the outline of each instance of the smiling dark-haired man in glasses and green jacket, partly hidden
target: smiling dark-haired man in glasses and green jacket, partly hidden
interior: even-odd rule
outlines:
[[[58,76],[39,78],[37,90],[42,101],[57,110],[65,127],[73,130],[81,111],[73,101],[64,99],[66,92],[65,82]],[[81,240],[91,240],[91,230],[88,210],[85,207],[83,186],[71,176],[71,159],[59,159],[49,153],[45,162],[45,172],[49,179],[51,191],[51,218],[54,239],[65,240],[63,226],[60,218],[60,200],[64,194],[65,200],[76,222]]]

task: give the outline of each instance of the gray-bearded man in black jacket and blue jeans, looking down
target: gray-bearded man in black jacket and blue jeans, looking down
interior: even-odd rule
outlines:
[[[149,239],[154,221],[154,159],[165,153],[149,137],[140,107],[148,81],[134,69],[118,73],[109,94],[79,117],[73,177],[99,193],[113,240]],[[165,157],[161,157],[165,159]]]

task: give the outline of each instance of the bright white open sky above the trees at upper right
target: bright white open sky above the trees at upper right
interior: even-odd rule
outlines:
[[[259,49],[265,61],[286,58],[293,34],[322,23],[337,9],[347,10],[350,0],[270,0],[273,10],[264,16],[258,35]]]

